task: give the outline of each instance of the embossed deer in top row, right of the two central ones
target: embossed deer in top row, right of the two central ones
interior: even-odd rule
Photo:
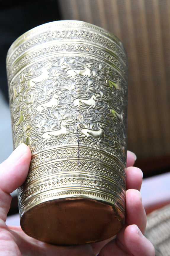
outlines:
[[[64,78],[65,80],[68,80],[70,77],[76,79],[77,75],[83,76],[82,83],[84,83],[85,78],[91,77],[90,68],[92,67],[93,62],[87,62],[83,65],[83,69],[68,69],[67,70],[67,76]]]

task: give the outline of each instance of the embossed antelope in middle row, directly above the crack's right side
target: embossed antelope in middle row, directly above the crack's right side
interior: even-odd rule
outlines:
[[[101,96],[101,95],[100,95],[99,93],[95,93],[95,94],[93,94],[92,97],[89,98],[89,99],[81,99],[81,98],[79,99],[79,98],[77,98],[77,99],[75,99],[75,100],[73,101],[74,106],[71,106],[70,108],[74,108],[74,107],[77,107],[77,106],[78,106],[80,109],[83,109],[82,104],[84,104],[84,105],[86,105],[86,106],[89,106],[88,109],[87,109],[87,114],[90,114],[90,113],[89,113],[89,110],[90,110],[90,109],[94,109],[94,108],[96,108],[96,109],[102,109],[102,108],[96,106],[96,101],[97,101],[98,98],[100,98],[100,96]],[[73,97],[72,97],[72,98],[73,98]]]

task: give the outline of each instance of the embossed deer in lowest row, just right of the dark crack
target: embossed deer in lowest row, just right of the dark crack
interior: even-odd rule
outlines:
[[[103,131],[103,128],[106,127],[105,124],[102,124],[100,122],[97,122],[97,130],[92,130],[92,129],[81,129],[81,138],[86,139],[89,142],[92,142],[90,137],[92,136],[93,138],[97,139],[97,144],[99,144],[101,139],[105,139],[105,134]]]

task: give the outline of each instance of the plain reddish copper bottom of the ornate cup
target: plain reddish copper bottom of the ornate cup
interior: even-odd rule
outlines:
[[[117,234],[124,226],[124,215],[118,208],[95,200],[51,200],[26,211],[20,224],[26,234],[40,241],[78,245]]]

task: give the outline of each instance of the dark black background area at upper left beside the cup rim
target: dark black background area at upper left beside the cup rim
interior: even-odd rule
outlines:
[[[59,6],[55,0],[0,1],[0,90],[7,102],[5,62],[10,45],[33,27],[60,19]]]

